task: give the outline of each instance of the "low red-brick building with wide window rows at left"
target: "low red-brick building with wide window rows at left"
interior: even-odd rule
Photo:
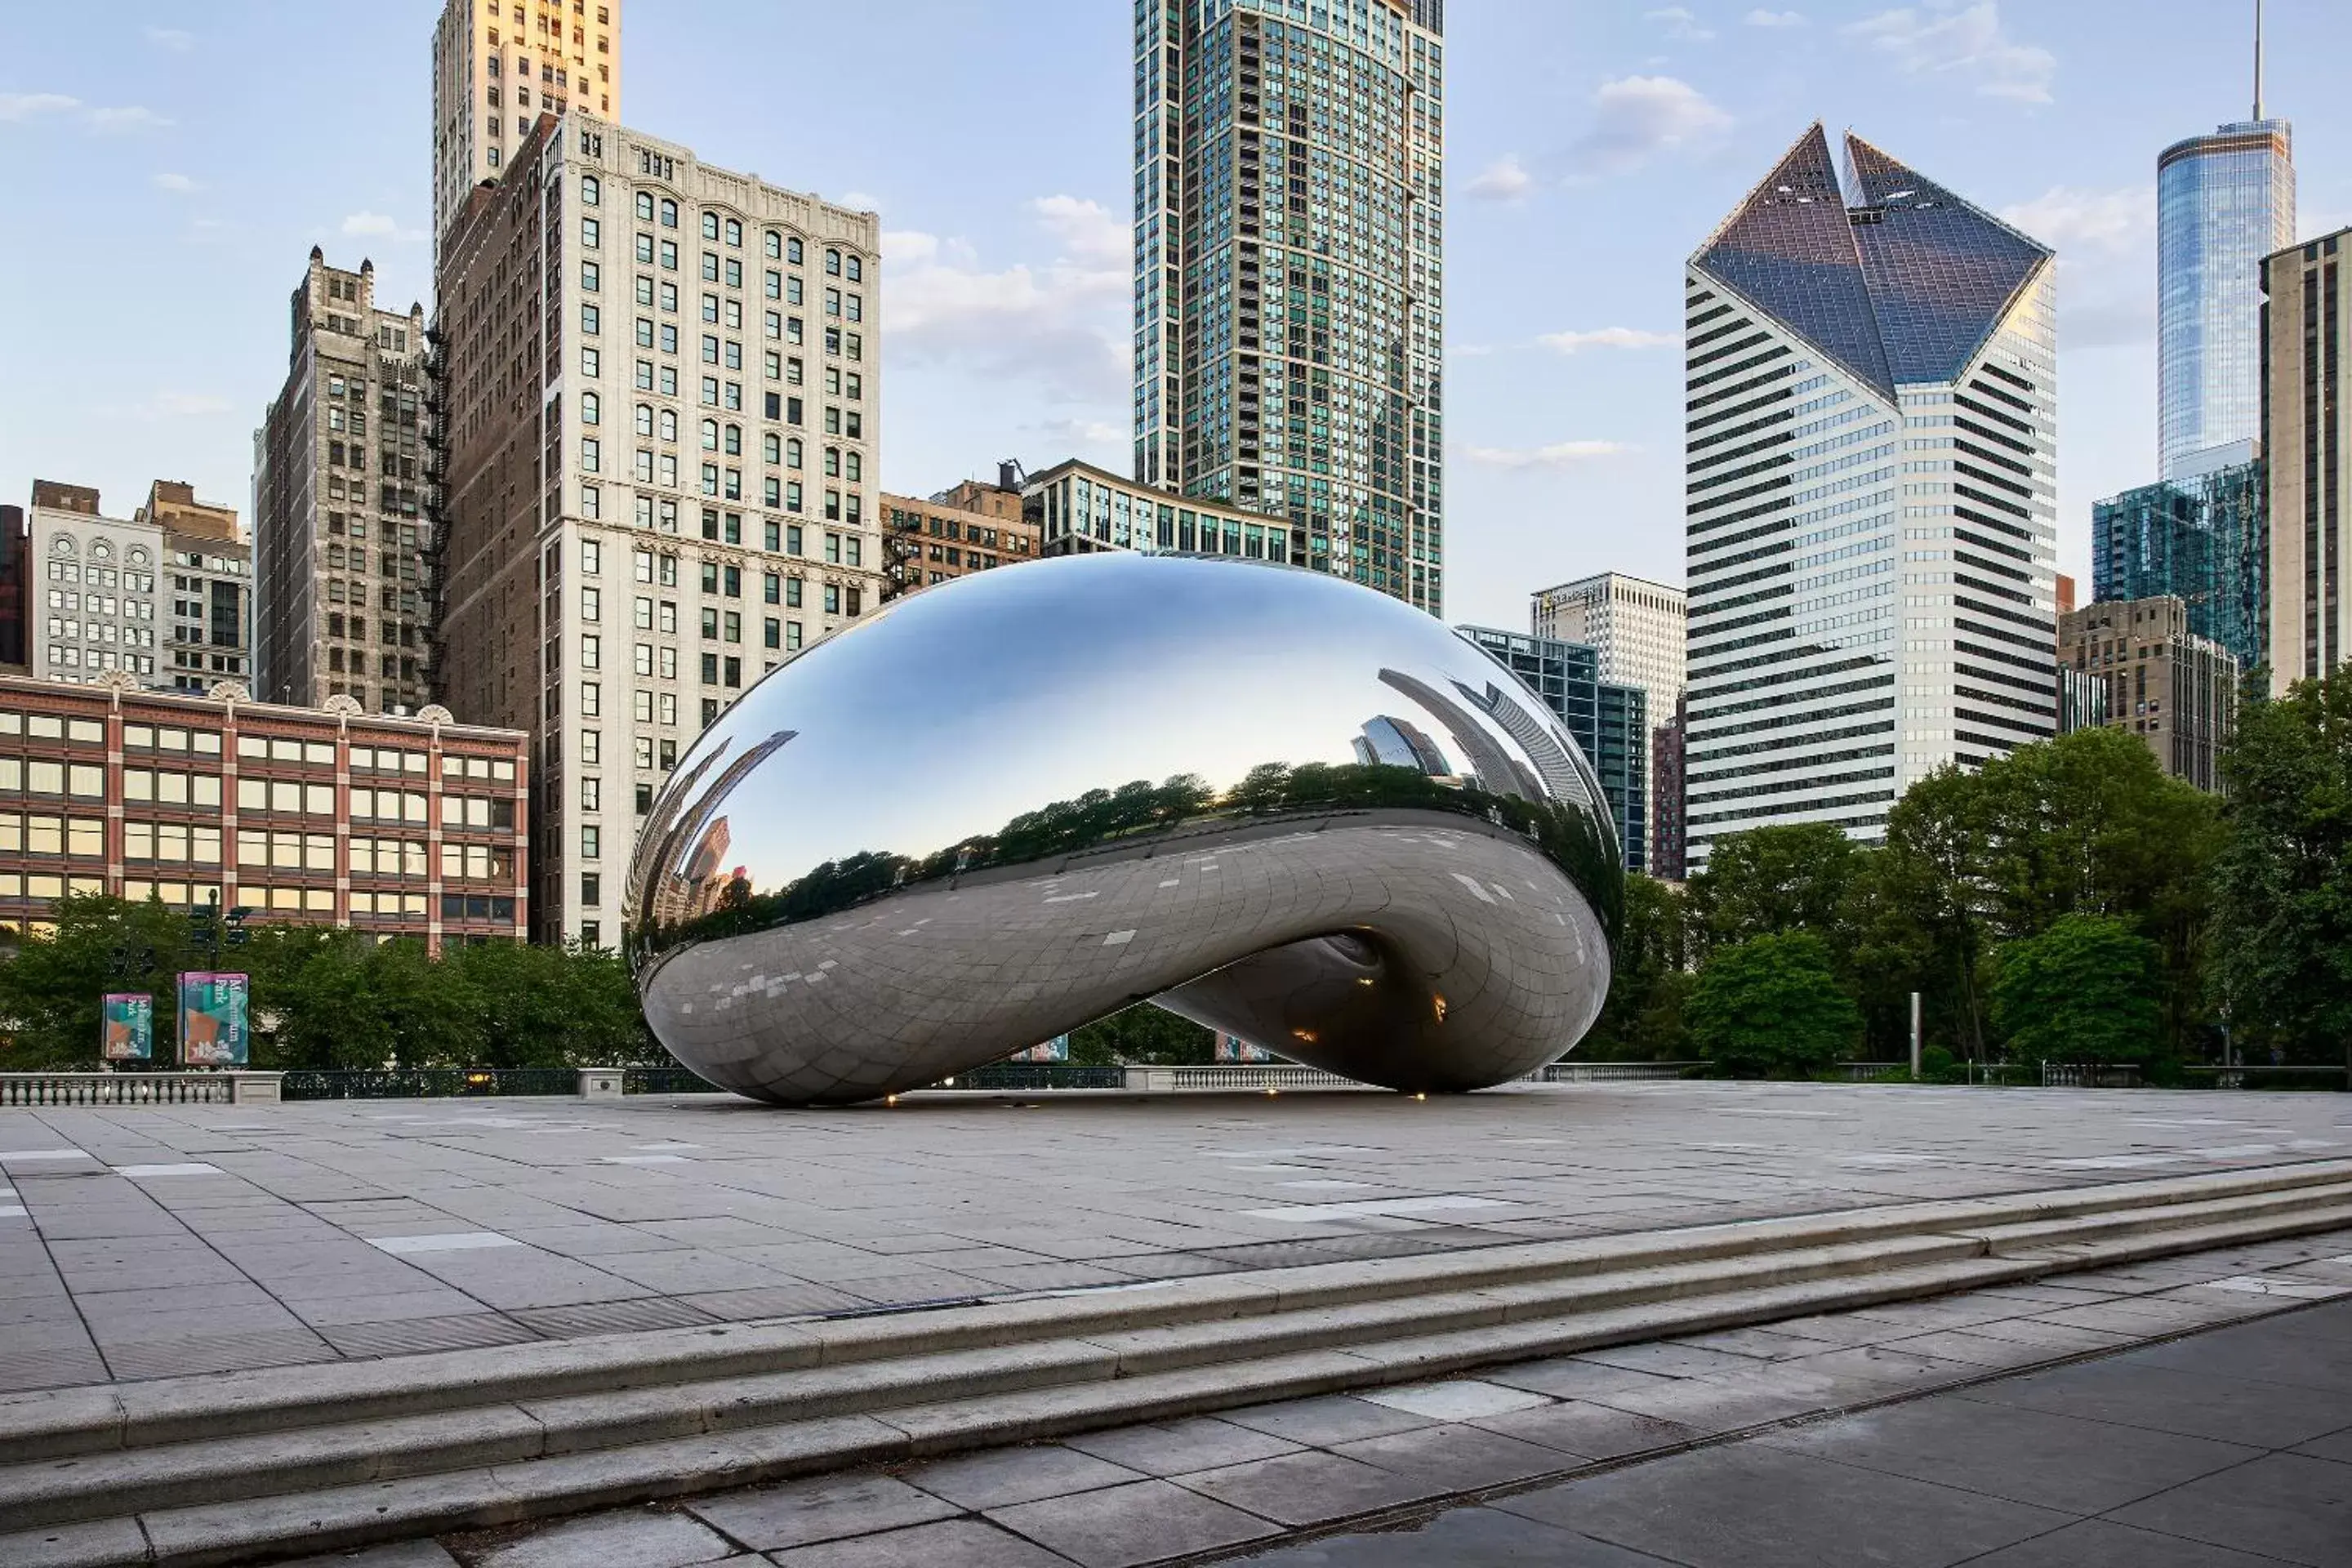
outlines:
[[[66,893],[372,936],[524,933],[524,736],[0,677],[0,926]]]

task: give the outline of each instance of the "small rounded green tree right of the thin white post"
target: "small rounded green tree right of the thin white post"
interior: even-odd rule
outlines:
[[[2164,1046],[2157,943],[2112,914],[2060,914],[2004,943],[1992,1018],[2030,1063],[2147,1063]]]

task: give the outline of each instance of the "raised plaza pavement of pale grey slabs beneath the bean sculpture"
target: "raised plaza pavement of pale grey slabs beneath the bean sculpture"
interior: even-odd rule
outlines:
[[[2352,1098],[1639,1084],[0,1110],[0,1392],[2352,1152]]]

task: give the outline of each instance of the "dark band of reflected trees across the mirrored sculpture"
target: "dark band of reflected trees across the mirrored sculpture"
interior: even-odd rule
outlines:
[[[1117,790],[1087,790],[1077,799],[1023,811],[993,835],[962,839],[924,858],[863,851],[828,860],[774,893],[734,882],[720,907],[691,919],[663,919],[673,905],[656,900],[652,919],[637,931],[635,947],[640,957],[649,957],[687,940],[743,936],[840,914],[903,886],[927,882],[953,886],[960,877],[1040,860],[1122,856],[1174,835],[1352,811],[1442,811],[1472,818],[1486,830],[1534,839],[1578,886],[1611,940],[1616,938],[1625,875],[1606,818],[1592,818],[1569,804],[1498,795],[1465,778],[1430,778],[1411,766],[1263,762],[1223,795],[1197,773],[1176,773],[1157,785],[1138,778]]]

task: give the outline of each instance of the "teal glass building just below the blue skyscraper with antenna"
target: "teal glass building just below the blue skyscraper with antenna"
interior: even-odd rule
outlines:
[[[2270,494],[2260,458],[2091,505],[2091,599],[2166,595],[2190,607],[2192,632],[2230,649],[2241,668],[2270,656]]]

